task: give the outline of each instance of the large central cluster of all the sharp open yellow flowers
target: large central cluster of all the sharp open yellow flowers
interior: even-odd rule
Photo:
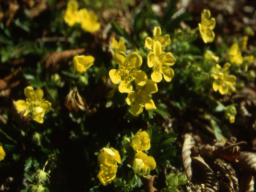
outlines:
[[[167,82],[171,81],[174,75],[170,68],[175,63],[175,58],[171,52],[166,53],[166,46],[171,43],[169,35],[161,36],[161,28],[154,28],[154,38],[146,37],[145,46],[150,50],[147,55],[147,66],[153,69],[151,79],[147,79],[147,75],[139,67],[142,65],[142,57],[137,52],[128,55],[124,53],[126,50],[124,40],[119,42],[113,38],[112,48],[114,49],[113,60],[118,64],[118,69],[112,69],[109,72],[112,83],[119,84],[118,89],[121,93],[128,93],[126,103],[131,106],[131,113],[139,115],[146,110],[156,109],[151,94],[158,91],[156,83],[162,80],[162,76]],[[132,82],[135,82],[136,89],[133,90]]]

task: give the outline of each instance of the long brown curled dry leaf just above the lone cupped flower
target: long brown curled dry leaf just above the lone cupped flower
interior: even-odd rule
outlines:
[[[50,54],[47,62],[46,62],[46,69],[49,67],[56,67],[56,65],[60,62],[67,62],[68,60],[72,59],[75,55],[80,55],[85,53],[85,48],[77,48],[71,50],[64,50],[61,52],[53,52]]]

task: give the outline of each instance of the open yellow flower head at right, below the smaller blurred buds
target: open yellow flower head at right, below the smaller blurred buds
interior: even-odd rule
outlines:
[[[211,77],[214,78],[214,82],[212,84],[213,90],[218,91],[221,95],[225,95],[231,91],[235,91],[235,81],[236,77],[234,75],[229,75],[227,70],[230,68],[230,63],[225,63],[224,67],[221,69],[219,64],[216,64],[212,68]]]

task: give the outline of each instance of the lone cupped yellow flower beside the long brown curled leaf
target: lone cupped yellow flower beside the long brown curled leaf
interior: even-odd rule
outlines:
[[[86,72],[86,70],[91,67],[94,63],[93,56],[84,56],[84,55],[77,55],[73,58],[74,69],[78,72]]]

